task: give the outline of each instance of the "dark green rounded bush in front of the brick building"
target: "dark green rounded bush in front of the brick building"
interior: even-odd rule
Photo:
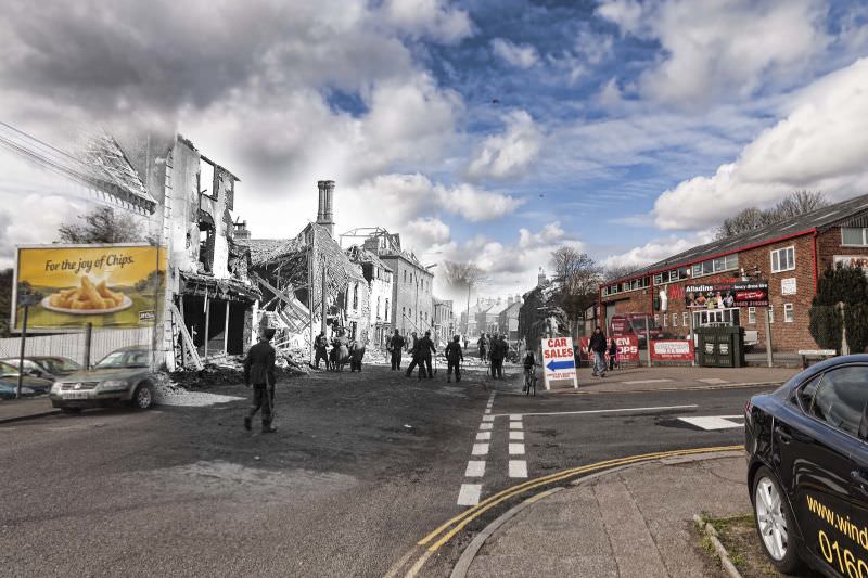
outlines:
[[[839,304],[843,304],[843,316]],[[838,264],[824,271],[817,283],[808,329],[820,347],[840,351],[844,326],[850,350],[864,351],[868,345],[868,279],[860,267]]]

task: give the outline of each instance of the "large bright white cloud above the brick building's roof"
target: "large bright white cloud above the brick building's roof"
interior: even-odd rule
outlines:
[[[712,227],[748,206],[769,206],[794,190],[841,198],[868,190],[868,59],[802,91],[789,114],[711,177],[664,192],[661,229]]]

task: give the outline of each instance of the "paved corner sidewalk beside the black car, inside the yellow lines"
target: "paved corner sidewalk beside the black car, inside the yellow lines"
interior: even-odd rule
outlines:
[[[743,453],[727,452],[578,480],[521,510],[472,558],[468,549],[452,578],[723,576],[699,551],[692,516],[750,512],[745,476]]]

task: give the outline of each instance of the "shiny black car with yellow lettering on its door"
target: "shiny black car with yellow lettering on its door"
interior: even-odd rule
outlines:
[[[745,406],[760,539],[783,573],[868,578],[868,355],[818,363]]]

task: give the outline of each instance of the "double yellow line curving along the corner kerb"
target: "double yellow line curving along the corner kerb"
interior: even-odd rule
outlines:
[[[459,515],[455,516],[454,518],[445,522],[441,525],[437,529],[419,540],[417,545],[419,547],[427,547],[427,553],[423,556],[423,558],[427,558],[432,553],[436,552],[443,544],[448,542],[452,539],[452,537],[461,531],[468,524],[480,517],[486,511],[490,510],[492,508],[509,500],[510,498],[514,498],[521,493],[524,493],[528,490],[533,490],[540,486],[546,486],[549,484],[556,484],[558,481],[563,481],[571,477],[579,476],[582,474],[589,474],[591,472],[596,472],[598,470],[604,470],[608,467],[617,467],[620,465],[628,465],[637,462],[648,461],[648,460],[658,460],[661,458],[673,458],[678,455],[690,455],[694,453],[710,453],[710,452],[723,452],[723,451],[735,451],[744,449],[744,446],[720,446],[714,448],[695,448],[689,450],[674,450],[674,451],[661,451],[655,453],[642,453],[639,455],[630,455],[627,458],[618,458],[615,460],[605,460],[603,462],[597,462],[589,465],[583,465],[579,467],[573,467],[570,470],[563,470],[556,474],[550,474],[548,476],[538,477],[535,479],[527,480],[523,484],[519,484],[516,486],[512,486],[511,488],[507,488],[498,493],[495,493],[490,498],[483,500],[478,504],[474,505],[473,508],[469,508],[468,510],[463,511]],[[439,536],[439,539],[436,539]],[[435,540],[436,539],[436,540]],[[420,560],[421,562],[421,560]]]

